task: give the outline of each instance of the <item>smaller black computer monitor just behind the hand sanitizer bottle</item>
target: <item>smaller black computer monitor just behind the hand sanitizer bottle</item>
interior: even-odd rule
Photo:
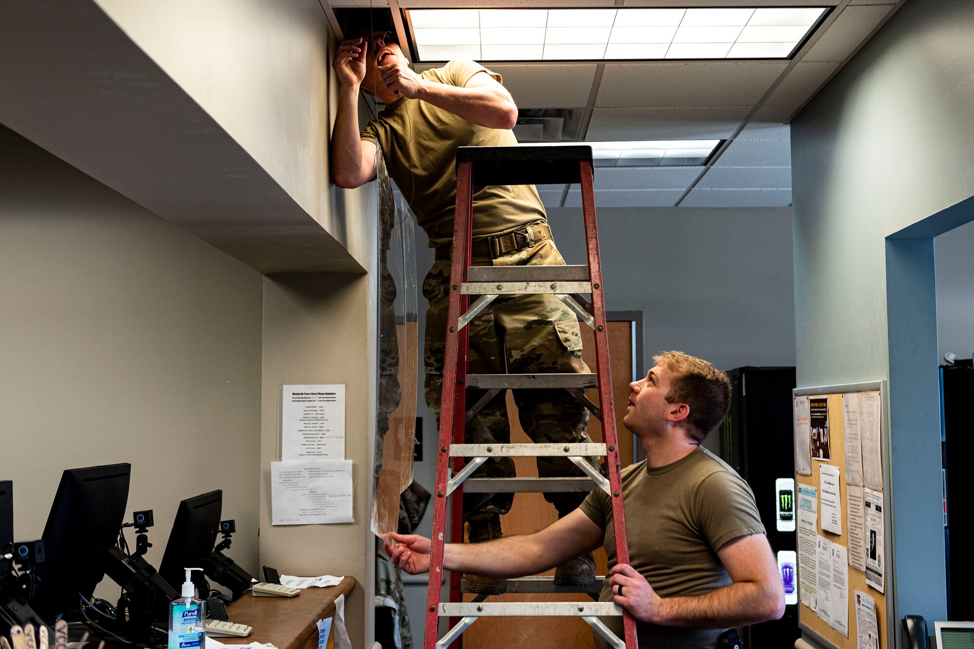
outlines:
[[[186,581],[183,570],[202,568],[203,562],[213,554],[222,509],[223,491],[220,489],[179,503],[163,562],[159,564],[159,574],[177,592]]]

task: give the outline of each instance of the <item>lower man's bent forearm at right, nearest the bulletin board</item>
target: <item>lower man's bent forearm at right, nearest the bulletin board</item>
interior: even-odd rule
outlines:
[[[740,582],[693,597],[663,597],[654,622],[666,627],[727,629],[775,617],[780,617],[776,592]]]

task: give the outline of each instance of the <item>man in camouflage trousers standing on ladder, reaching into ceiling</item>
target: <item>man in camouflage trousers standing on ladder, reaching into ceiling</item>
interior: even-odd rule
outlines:
[[[343,42],[333,67],[341,82],[338,114],[331,141],[331,175],[341,187],[357,187],[375,176],[376,155],[383,158],[420,226],[436,248],[435,262],[423,283],[430,302],[426,321],[424,365],[426,400],[439,418],[449,303],[450,255],[456,202],[458,146],[511,146],[510,129],[517,107],[501,85],[501,76],[473,61],[455,60],[422,74],[406,65],[389,32]],[[377,119],[359,131],[357,104],[364,90],[386,104]],[[532,185],[480,188],[473,195],[473,265],[564,264],[547,225],[538,192]],[[469,325],[471,373],[585,372],[581,334],[575,314],[553,295],[501,297]],[[482,393],[468,392],[468,403]],[[515,391],[514,401],[524,431],[545,442],[589,442],[588,413],[563,390]],[[510,431],[506,395],[490,401],[468,423],[472,443],[506,443]],[[542,477],[580,475],[565,458],[539,458]],[[510,458],[492,459],[478,477],[512,477]],[[481,499],[465,496],[471,542],[502,535],[500,515],[512,494]],[[581,502],[573,493],[545,494],[558,515],[568,515]],[[560,585],[590,583],[595,564],[590,554],[567,556],[556,569]],[[468,575],[468,590],[504,592],[497,576]]]

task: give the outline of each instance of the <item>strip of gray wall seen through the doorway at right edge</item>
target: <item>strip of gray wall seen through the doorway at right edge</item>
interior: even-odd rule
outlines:
[[[974,355],[974,222],[934,239],[937,268],[937,363]]]

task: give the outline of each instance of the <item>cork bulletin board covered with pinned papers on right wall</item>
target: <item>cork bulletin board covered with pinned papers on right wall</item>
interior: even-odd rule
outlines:
[[[888,477],[888,467],[889,467],[889,442],[888,442],[888,408],[884,402],[886,391],[884,386],[884,381],[877,381],[871,383],[860,383],[844,386],[829,386],[824,388],[801,388],[794,391],[794,398],[796,402],[796,448],[803,448],[805,438],[799,436],[799,424],[798,421],[801,420],[800,403],[803,403],[803,399],[807,399],[808,410],[805,411],[806,425],[807,425],[807,435],[809,441],[808,460],[805,462],[805,467],[810,469],[810,475],[803,475],[803,463],[799,461],[798,450],[796,451],[796,499],[801,501],[802,498],[802,488],[810,487],[816,490],[816,500],[817,500],[817,511],[815,513],[815,532],[816,539],[818,542],[819,538],[827,539],[835,546],[831,546],[837,549],[839,553],[844,552],[846,556],[847,565],[847,577],[845,578],[844,591],[846,592],[845,597],[845,608],[847,609],[847,617],[845,618],[844,630],[847,630],[847,635],[845,635],[842,630],[837,629],[837,627],[842,628],[841,623],[830,624],[828,621],[828,614],[826,614],[826,619],[823,619],[816,610],[811,606],[807,605],[806,594],[804,597],[800,597],[799,600],[799,626],[805,632],[806,635],[810,635],[811,639],[823,644],[826,647],[833,647],[835,649],[857,649],[859,646],[859,628],[857,624],[856,616],[856,600],[854,593],[856,591],[867,593],[875,601],[876,610],[876,625],[879,634],[879,638],[875,638],[870,642],[872,646],[876,646],[877,649],[889,649],[896,646],[895,639],[895,612],[893,610],[892,602],[894,601],[893,583],[891,579],[891,571],[888,568],[889,561],[892,556],[892,538],[891,538],[891,525],[889,520],[889,509],[890,509],[890,499],[889,494],[889,477]],[[849,397],[851,395],[851,397]],[[863,397],[860,397],[863,395]],[[845,396],[845,397],[843,397]],[[873,410],[871,410],[866,415],[862,415],[858,409],[859,400],[863,402],[868,402],[872,404]],[[845,407],[843,407],[845,403]],[[848,408],[852,408],[849,412]],[[827,412],[827,419],[825,419],[825,413]],[[846,421],[846,416],[851,420],[851,423]],[[869,426],[872,429],[868,429],[863,421],[868,420]],[[823,433],[823,422],[827,422],[827,433]],[[849,437],[850,447],[846,448],[846,432],[847,429],[851,429],[852,433]],[[868,437],[871,439],[870,443],[870,457],[873,459],[873,463],[868,465],[862,457],[864,454],[861,450],[862,445],[856,446],[855,439],[857,438],[856,432],[858,431],[858,437],[865,438],[867,433],[864,431],[873,430],[873,433]],[[862,443],[862,442],[860,442]],[[855,457],[855,449],[860,448],[860,457]],[[847,450],[851,451],[852,457],[849,458],[848,466],[846,466],[846,455]],[[880,467],[877,467],[877,453],[879,453]],[[866,486],[857,486],[855,484],[846,484],[846,479],[856,480],[856,467],[859,467],[859,485],[863,485],[862,476],[866,476]],[[862,467],[866,467],[865,471]],[[823,469],[826,473],[835,473],[834,469],[825,469],[826,467],[833,467],[839,469],[839,479],[838,479],[838,491],[839,498],[838,502],[841,504],[840,512],[838,515],[833,514],[834,510],[825,507],[823,504],[823,496],[826,496],[826,486],[822,481]],[[879,469],[880,474],[877,473]],[[848,472],[852,471],[852,475],[849,476]],[[868,487],[872,484],[874,487],[871,490]],[[877,493],[880,492],[876,487],[881,488],[881,513],[878,513],[880,508],[877,505]],[[852,490],[851,496],[852,501],[849,500],[849,490]],[[857,501],[859,498],[858,492],[862,490],[866,495],[864,496],[863,509],[859,512],[865,512],[865,515],[856,515],[853,517],[855,522],[855,529],[850,530],[850,505]],[[832,491],[831,488],[828,491]],[[809,492],[805,491],[805,498],[809,498]],[[827,496],[830,502],[835,502],[834,497]],[[872,503],[870,499],[872,498]],[[870,507],[870,504],[872,507]],[[824,510],[824,512],[823,512]],[[801,515],[801,512],[798,513]],[[810,515],[809,515],[810,518]],[[863,526],[861,521],[863,519],[871,520],[874,529],[881,527],[881,530],[876,530],[874,532],[869,531],[869,527]],[[807,520],[807,518],[806,518]],[[879,522],[878,522],[879,521]],[[840,529],[840,533],[836,533],[830,529],[823,527],[825,524],[828,527]],[[850,540],[850,531],[855,535],[855,537]],[[801,530],[799,531],[799,545],[802,544]],[[809,539],[810,532],[808,525],[805,526],[805,539]],[[875,552],[870,548],[872,538],[875,541],[879,539],[878,543],[874,543],[876,548]],[[858,541],[856,541],[856,539]],[[854,553],[859,558],[853,561],[853,553],[849,552],[850,546],[853,549],[858,549]],[[878,547],[877,547],[878,546]],[[807,548],[807,546],[805,546]],[[823,547],[830,547],[828,543],[825,543]],[[844,549],[844,551],[842,550]],[[807,551],[806,551],[807,552]],[[872,557],[872,562],[870,559]],[[881,572],[878,571],[876,562],[881,561]],[[853,563],[863,564],[863,560],[870,562],[866,566],[866,570],[860,570],[858,567],[853,566]],[[815,573],[809,573],[808,571],[808,561],[807,554],[805,554],[805,564],[803,561],[799,560],[798,571],[799,577],[798,581],[800,584],[816,584],[820,585],[822,582],[822,573],[820,572],[822,565],[820,563],[812,563],[811,570],[818,570]],[[803,570],[805,573],[803,574]],[[870,571],[867,573],[867,570]],[[828,575],[828,570],[826,569],[825,575]],[[869,578],[867,577],[869,574]],[[824,580],[828,583],[828,580]],[[870,583],[872,582],[872,583]],[[880,584],[881,582],[881,584]],[[835,586],[840,583],[839,581],[833,581],[834,592],[839,592],[840,588]],[[876,585],[880,584],[882,592],[875,588]],[[801,587],[800,587],[801,588]],[[811,598],[815,599],[818,603],[821,600],[816,597],[815,592],[808,592]],[[818,592],[818,595],[821,595]],[[841,596],[841,595],[840,595]],[[841,609],[841,599],[835,594],[829,596],[831,602],[840,602],[839,604],[829,604],[823,607],[823,610],[840,610]],[[866,631],[869,625],[864,624],[863,630]],[[877,641],[878,640],[878,641]],[[876,642],[876,644],[872,644]],[[867,645],[869,646],[869,645]]]

